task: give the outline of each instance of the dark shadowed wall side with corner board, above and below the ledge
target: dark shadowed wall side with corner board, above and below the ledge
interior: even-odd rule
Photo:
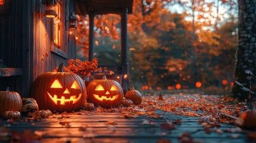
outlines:
[[[10,11],[0,13],[0,59],[7,67],[25,69],[23,63],[27,62],[25,59],[29,53],[30,2],[8,0],[7,4],[10,5]],[[6,86],[10,86],[11,91],[23,94],[26,89],[21,88],[21,85],[24,85],[26,80],[27,78],[23,76],[2,77],[0,79],[1,91]]]

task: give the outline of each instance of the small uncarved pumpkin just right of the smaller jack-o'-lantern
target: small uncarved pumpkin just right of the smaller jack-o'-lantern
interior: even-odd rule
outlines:
[[[132,90],[129,90],[127,94],[125,94],[125,98],[127,100],[131,100],[134,105],[140,105],[142,102],[142,95],[134,88],[132,88]]]

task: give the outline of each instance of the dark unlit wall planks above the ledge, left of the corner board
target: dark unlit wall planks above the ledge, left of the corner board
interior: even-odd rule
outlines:
[[[21,67],[22,52],[22,3],[23,1],[8,1],[11,4],[9,14],[0,14],[0,59],[7,67]],[[14,42],[15,41],[15,42]]]

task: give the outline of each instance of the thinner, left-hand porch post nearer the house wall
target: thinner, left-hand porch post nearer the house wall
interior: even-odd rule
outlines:
[[[89,13],[89,50],[88,60],[92,61],[94,54],[94,16],[93,11]]]

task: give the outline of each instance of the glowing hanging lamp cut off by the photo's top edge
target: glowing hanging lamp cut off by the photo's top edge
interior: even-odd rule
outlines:
[[[57,17],[58,14],[54,10],[54,6],[57,4],[56,0],[44,0],[45,11],[44,16],[48,18]]]

